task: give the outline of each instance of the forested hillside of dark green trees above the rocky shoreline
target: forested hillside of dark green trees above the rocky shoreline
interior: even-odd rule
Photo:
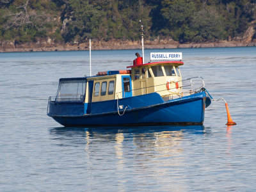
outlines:
[[[180,43],[234,40],[251,26],[256,1],[246,0],[0,0],[0,42],[138,40]]]

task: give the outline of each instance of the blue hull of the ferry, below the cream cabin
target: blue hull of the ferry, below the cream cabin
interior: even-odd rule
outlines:
[[[118,101],[98,102],[94,108],[102,106],[103,109],[92,110],[90,114],[85,113],[87,104],[81,104],[80,109],[77,107],[79,104],[74,105],[79,114],[76,114],[72,109],[69,114],[65,114],[65,111],[67,112],[67,109],[73,106],[72,104],[69,104],[69,107],[67,107],[50,102],[48,115],[54,118],[56,122],[68,127],[204,124],[205,92],[167,102],[164,102],[158,95],[154,93],[128,97]],[[127,106],[127,109],[119,109],[118,111],[116,102],[118,102],[118,105]],[[104,106],[106,106],[106,110],[104,110]],[[102,112],[102,110],[106,112]],[[123,113],[124,115],[122,115]]]

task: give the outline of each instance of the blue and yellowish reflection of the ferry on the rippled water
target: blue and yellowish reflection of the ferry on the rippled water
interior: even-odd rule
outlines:
[[[203,125],[195,126],[154,126],[154,127],[56,127],[49,129],[54,140],[81,143],[83,138],[87,154],[104,148],[108,143],[114,146],[117,159],[125,159],[125,151],[132,148],[135,156],[170,157],[183,151],[180,141],[184,134],[204,135]],[[115,143],[115,144],[114,144]],[[108,149],[109,150],[109,149]],[[145,160],[145,159],[143,159]],[[173,162],[172,162],[173,163]],[[119,162],[118,164],[122,164]]]

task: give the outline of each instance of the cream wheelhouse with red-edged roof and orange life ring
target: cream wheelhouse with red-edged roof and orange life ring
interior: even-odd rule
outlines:
[[[132,66],[133,95],[157,92],[162,97],[177,95],[181,91],[180,61],[163,61]]]

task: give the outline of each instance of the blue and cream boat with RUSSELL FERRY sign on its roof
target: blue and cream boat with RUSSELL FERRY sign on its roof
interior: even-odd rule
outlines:
[[[47,115],[66,127],[203,125],[212,97],[202,77],[182,79],[182,52],[136,56],[124,70],[61,78]]]

